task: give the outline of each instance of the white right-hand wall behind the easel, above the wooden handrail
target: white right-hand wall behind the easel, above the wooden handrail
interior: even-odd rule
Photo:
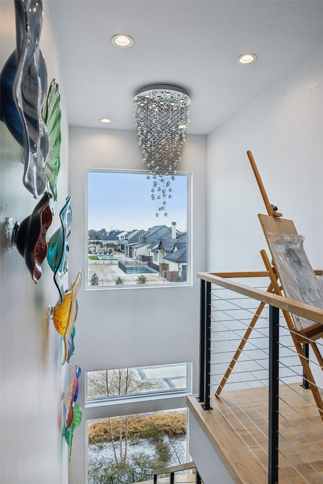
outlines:
[[[266,209],[247,150],[268,199],[305,235],[313,268],[323,267],[322,77],[319,53],[208,136],[208,270],[263,270],[257,214]]]

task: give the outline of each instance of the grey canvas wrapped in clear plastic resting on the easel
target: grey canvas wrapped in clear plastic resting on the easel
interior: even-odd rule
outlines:
[[[268,242],[286,297],[323,308],[323,291],[304,251],[303,235],[268,232]],[[294,315],[298,331],[315,323]]]

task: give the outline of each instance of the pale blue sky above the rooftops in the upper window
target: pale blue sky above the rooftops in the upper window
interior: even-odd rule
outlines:
[[[88,229],[147,230],[176,222],[179,230],[186,231],[187,176],[177,175],[170,187],[172,198],[165,199],[168,216],[158,212],[156,217],[156,204],[151,200],[152,177],[147,179],[147,172],[88,171]]]

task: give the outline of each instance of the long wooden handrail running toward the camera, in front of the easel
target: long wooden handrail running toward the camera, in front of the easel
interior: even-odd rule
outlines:
[[[196,275],[199,279],[225,287],[226,289],[238,292],[239,294],[251,297],[252,299],[265,302],[266,304],[274,306],[275,308],[282,309],[288,313],[297,314],[298,316],[302,316],[303,318],[323,325],[323,309],[316,308],[309,304],[304,304],[303,302],[295,301],[294,299],[289,299],[288,297],[278,296],[276,294],[262,291],[261,289],[246,286],[244,284],[240,284],[239,282],[225,279],[214,274],[216,273],[198,272]]]

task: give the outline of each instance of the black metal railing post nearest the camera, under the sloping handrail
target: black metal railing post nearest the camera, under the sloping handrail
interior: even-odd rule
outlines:
[[[279,469],[279,309],[269,307],[268,484],[278,484]]]

